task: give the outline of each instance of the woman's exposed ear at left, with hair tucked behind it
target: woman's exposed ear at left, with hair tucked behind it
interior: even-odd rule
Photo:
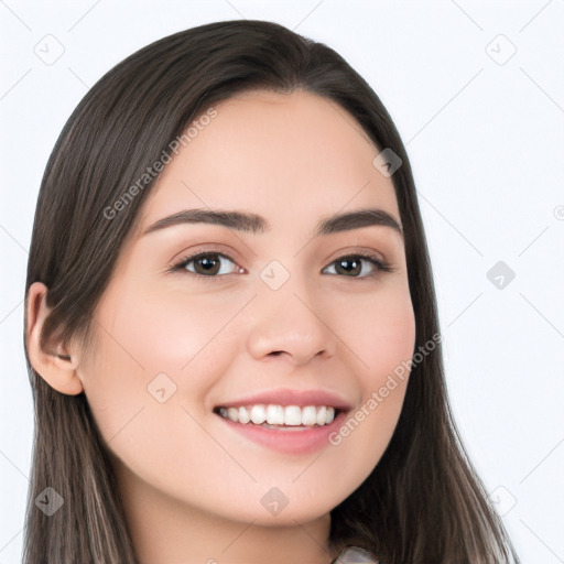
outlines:
[[[28,357],[33,369],[55,390],[61,393],[76,395],[84,391],[83,382],[77,376],[78,350],[70,350],[61,343],[45,345],[42,349],[40,337],[43,324],[50,313],[46,305],[47,286],[34,282],[28,291],[25,312],[25,341]],[[53,347],[53,348],[51,348]]]

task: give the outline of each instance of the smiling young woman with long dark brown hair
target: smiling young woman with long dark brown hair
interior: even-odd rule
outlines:
[[[217,22],[104,76],[25,312],[25,563],[519,562],[452,420],[408,155],[327,46]]]

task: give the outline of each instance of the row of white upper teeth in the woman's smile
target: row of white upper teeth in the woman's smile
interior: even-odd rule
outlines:
[[[250,405],[247,408],[220,408],[223,417],[254,425],[313,426],[327,425],[335,419],[335,409],[326,405]]]

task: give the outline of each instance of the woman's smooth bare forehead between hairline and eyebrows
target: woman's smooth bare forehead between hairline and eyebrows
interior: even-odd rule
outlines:
[[[393,184],[372,164],[379,149],[344,108],[318,95],[246,91],[194,120],[161,173],[141,228],[191,208],[248,209],[272,225],[378,207],[399,221]]]

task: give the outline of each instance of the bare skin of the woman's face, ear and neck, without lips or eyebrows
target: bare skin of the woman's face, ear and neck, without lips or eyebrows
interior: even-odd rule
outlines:
[[[380,459],[408,380],[339,445],[314,454],[251,443],[213,408],[276,388],[329,390],[359,408],[412,357],[401,235],[367,226],[312,238],[322,217],[352,209],[378,207],[400,223],[393,185],[358,123],[324,98],[256,91],[216,109],[143,204],[94,313],[95,346],[40,349],[46,289],[35,283],[30,359],[62,393],[86,393],[142,563],[328,564],[329,511]],[[142,235],[195,207],[253,212],[272,229],[185,224]],[[367,250],[394,271],[371,278],[376,267],[364,262],[362,275],[336,272],[337,259]],[[204,251],[232,259],[221,258],[225,275],[166,272]],[[259,276],[274,259],[290,274],[275,291]],[[202,261],[188,268],[205,272]],[[161,372],[176,384],[164,403],[148,393]],[[275,516],[261,503],[272,487],[289,500]]]

